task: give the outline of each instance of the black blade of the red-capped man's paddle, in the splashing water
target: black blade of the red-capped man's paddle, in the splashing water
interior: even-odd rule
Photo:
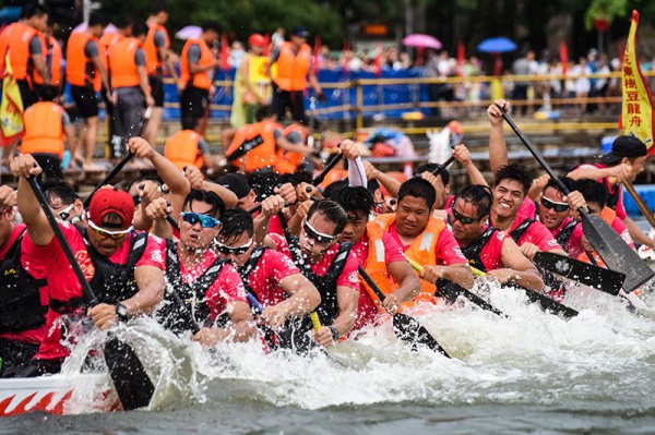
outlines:
[[[155,386],[134,350],[114,337],[105,343],[105,362],[123,410],[147,407]]]

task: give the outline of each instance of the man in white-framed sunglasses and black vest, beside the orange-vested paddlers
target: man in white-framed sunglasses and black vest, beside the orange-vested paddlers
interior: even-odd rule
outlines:
[[[283,207],[284,200],[279,195],[270,196],[262,203],[262,215],[277,215]],[[357,258],[350,252],[350,243],[338,243],[337,240],[347,221],[348,216],[338,204],[322,200],[309,207],[298,237],[270,234],[277,251],[291,258],[321,294],[317,313],[323,326],[312,333],[321,346],[331,345],[350,333],[357,318]],[[305,321],[303,327],[310,330],[311,323]],[[300,341],[296,346],[301,348],[303,343]]]

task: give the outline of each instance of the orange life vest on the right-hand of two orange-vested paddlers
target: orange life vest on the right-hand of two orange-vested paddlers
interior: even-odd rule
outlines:
[[[380,225],[384,231],[389,232],[391,227],[395,225],[395,213],[388,213],[385,215],[380,215],[376,217],[373,222]],[[442,220],[430,216],[426,229],[412,242],[409,247],[407,247],[407,251],[405,251],[405,256],[407,258],[414,259],[421,266],[436,266],[438,261],[437,241],[439,240],[439,234],[441,233],[441,231],[443,231],[444,228],[445,223]],[[418,275],[418,271],[416,271],[416,276]],[[417,298],[434,300],[436,291],[437,287],[433,283],[421,279],[420,294],[414,298],[413,301],[417,300]]]

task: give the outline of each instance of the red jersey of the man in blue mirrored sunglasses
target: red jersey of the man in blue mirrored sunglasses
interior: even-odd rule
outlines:
[[[178,246],[179,250],[179,246]],[[180,264],[180,277],[187,285],[193,283],[198,277],[202,276],[216,261],[216,253],[207,250],[194,267],[187,269],[183,262]],[[246,288],[241,277],[233,265],[226,263],[221,273],[205,292],[205,302],[210,307],[210,321],[215,321],[223,314],[231,301],[241,301],[248,303],[246,299]]]

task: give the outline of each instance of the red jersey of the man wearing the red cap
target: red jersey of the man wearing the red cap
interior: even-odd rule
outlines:
[[[82,234],[80,234],[80,231],[74,226],[68,222],[60,222],[59,227],[68,240],[84,276],[91,281],[95,269],[91,257],[88,256],[88,252],[86,251]],[[132,234],[126,237],[122,245],[108,257],[109,261],[116,264],[127,264],[131,238]],[[51,300],[68,302],[76,298],[82,298],[82,286],[78,281],[57,238],[52,238],[50,243],[45,246],[37,246],[32,242],[28,235],[25,235],[25,240],[23,241],[23,255],[26,256],[26,262],[29,262],[26,263],[29,267],[32,267],[32,264],[43,264],[45,267],[48,276],[48,287]],[[136,267],[139,266],[155,266],[164,270],[164,241],[162,239],[155,235],[147,238],[145,251],[136,263]],[[27,271],[31,271],[31,269],[27,269]],[[83,314],[83,309],[80,309],[76,314]],[[41,342],[38,353],[35,357],[36,359],[49,360],[69,355],[69,350],[60,343],[62,328],[59,327],[59,324],[56,324],[60,316],[61,315],[52,309],[48,311],[48,334]]]

